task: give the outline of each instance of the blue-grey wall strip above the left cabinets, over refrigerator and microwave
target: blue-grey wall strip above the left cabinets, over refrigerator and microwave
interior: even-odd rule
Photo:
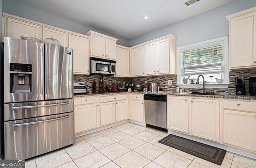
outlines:
[[[4,0],[3,12],[6,12],[8,14],[13,14],[16,16],[20,16],[22,18],[34,20],[36,22],[41,22],[44,24],[55,26],[58,28],[70,30],[72,32],[77,32],[80,34],[85,34],[89,30],[93,30],[95,32],[99,32],[99,33],[117,38],[118,39],[117,43],[120,45],[129,46],[129,40],[126,40],[124,38],[120,38],[118,36],[114,36],[112,34],[108,34],[106,32],[102,32],[100,30],[96,30],[94,28],[90,28],[88,26],[84,26],[82,24],[78,24],[78,23],[72,22],[70,20],[66,20],[64,18],[60,18],[58,16],[48,14],[46,12],[42,12],[40,10],[30,8],[28,6],[24,6],[22,4],[19,4],[16,2],[10,1],[10,0]]]

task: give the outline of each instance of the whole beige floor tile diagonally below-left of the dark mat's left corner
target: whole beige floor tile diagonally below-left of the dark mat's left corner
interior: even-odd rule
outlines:
[[[165,151],[166,150],[159,148],[157,146],[154,146],[150,143],[143,144],[142,146],[134,149],[134,152],[137,152],[138,154],[140,154],[150,160],[154,160],[155,158],[160,156]]]

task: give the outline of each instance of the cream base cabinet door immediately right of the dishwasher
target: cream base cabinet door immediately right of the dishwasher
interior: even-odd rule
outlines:
[[[167,126],[170,130],[188,133],[187,97],[168,97]]]

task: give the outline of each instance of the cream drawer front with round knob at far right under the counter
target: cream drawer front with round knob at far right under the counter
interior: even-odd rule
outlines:
[[[255,107],[256,107],[256,102],[240,101],[240,100],[224,100],[223,101],[224,109],[235,109],[235,110],[256,112]]]

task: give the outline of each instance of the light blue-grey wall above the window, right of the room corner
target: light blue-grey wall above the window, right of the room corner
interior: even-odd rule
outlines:
[[[129,41],[134,46],[168,34],[176,36],[176,46],[210,40],[228,35],[226,16],[256,6],[256,0],[234,0],[176,24],[155,30]]]

